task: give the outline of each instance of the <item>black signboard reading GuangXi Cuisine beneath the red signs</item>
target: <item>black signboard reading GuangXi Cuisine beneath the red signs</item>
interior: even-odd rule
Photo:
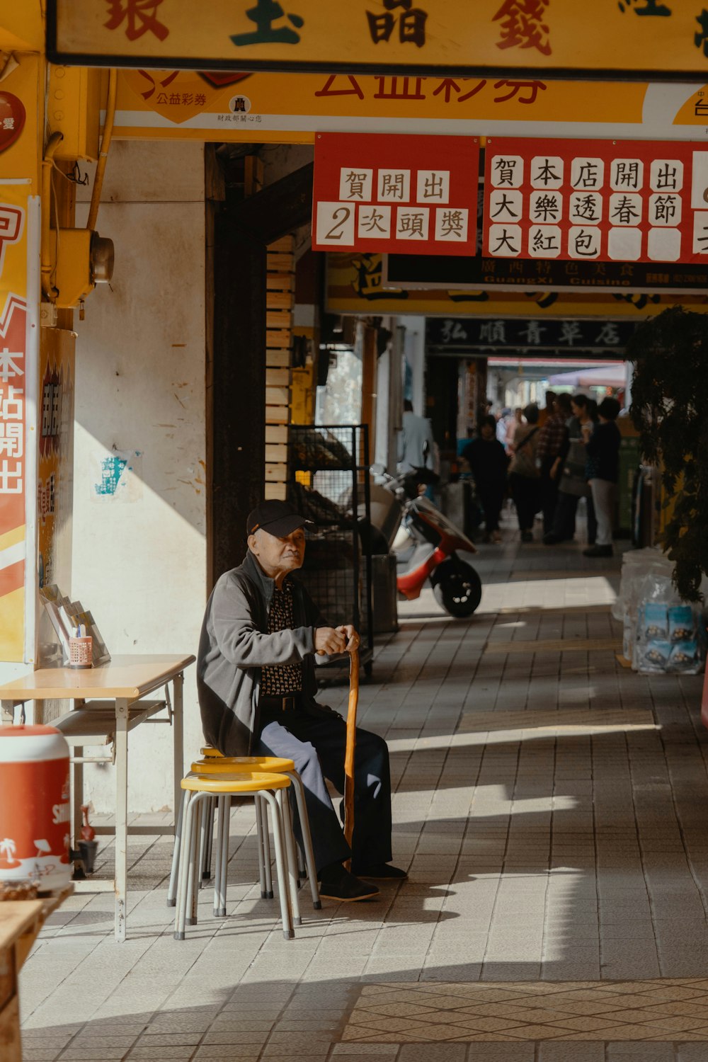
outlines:
[[[443,255],[385,255],[384,285],[396,288],[490,288],[525,291],[697,292],[708,290],[708,261],[584,262],[554,259],[445,257]]]

